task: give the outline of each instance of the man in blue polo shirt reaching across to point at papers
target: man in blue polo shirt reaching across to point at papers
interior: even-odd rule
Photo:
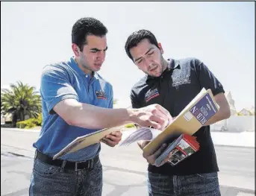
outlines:
[[[82,18],[72,28],[75,57],[46,66],[41,78],[43,127],[37,149],[29,195],[102,195],[100,144],[60,159],[52,159],[78,136],[105,127],[134,122],[163,128],[171,116],[158,104],[137,109],[111,109],[113,89],[98,73],[107,51],[107,28],[93,18]],[[117,130],[102,139],[115,146]]]

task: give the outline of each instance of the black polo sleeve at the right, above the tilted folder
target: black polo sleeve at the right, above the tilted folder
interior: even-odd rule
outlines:
[[[200,60],[196,60],[196,73],[199,77],[199,83],[202,88],[205,87],[205,89],[211,89],[213,95],[225,92],[222,83],[219,82],[207,66],[205,66],[205,64]]]

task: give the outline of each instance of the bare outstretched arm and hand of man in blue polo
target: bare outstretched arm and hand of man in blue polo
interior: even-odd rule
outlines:
[[[134,122],[143,127],[160,129],[171,118],[169,112],[158,104],[140,109],[107,109],[83,104],[74,98],[66,98],[54,108],[67,124],[87,129],[103,129]]]

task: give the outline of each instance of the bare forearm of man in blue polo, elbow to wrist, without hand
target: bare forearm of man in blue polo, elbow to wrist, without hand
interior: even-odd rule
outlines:
[[[69,124],[88,129],[115,127],[132,121],[134,110],[107,109],[77,103],[69,110]]]

